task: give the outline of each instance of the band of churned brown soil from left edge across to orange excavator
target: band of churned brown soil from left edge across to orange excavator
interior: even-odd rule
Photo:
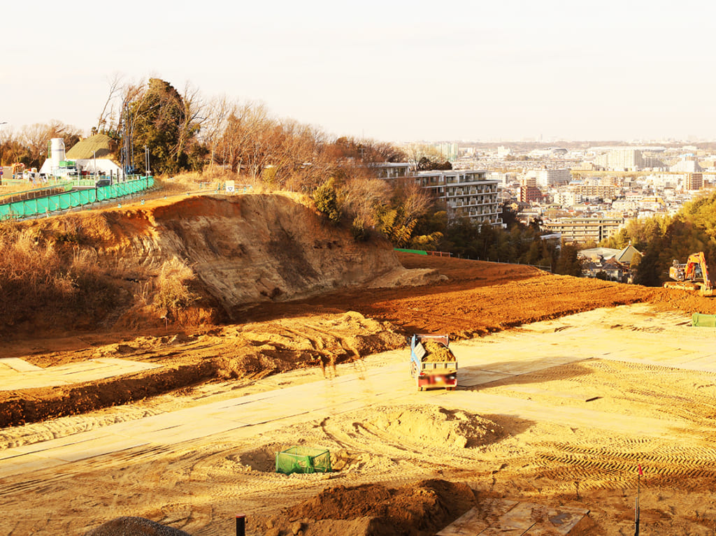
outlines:
[[[4,355],[23,356],[38,366],[93,359],[98,352],[106,355],[107,346],[115,356],[164,366],[62,388],[0,391],[0,426],[125,404],[216,378],[251,379],[349,361],[398,348],[413,332],[465,338],[644,301],[664,310],[716,313],[716,298],[687,291],[553,276],[522,265],[408,253],[399,258],[405,268],[437,269],[448,281],[422,287],[351,287],[300,301],[261,303],[235,311],[246,323],[243,326],[213,331],[194,328],[183,335],[180,341],[185,342],[180,344],[164,344],[168,338],[165,329],[145,331],[139,338],[136,333],[95,333],[57,341],[9,343]],[[380,323],[347,321],[341,316],[347,311]],[[381,324],[384,322],[389,324]],[[336,324],[339,328],[331,327]],[[127,342],[117,345],[117,341]]]

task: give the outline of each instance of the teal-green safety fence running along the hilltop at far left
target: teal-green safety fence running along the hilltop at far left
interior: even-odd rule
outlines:
[[[94,183],[93,183],[94,184]],[[38,214],[47,214],[55,210],[89,205],[97,201],[121,198],[125,195],[147,190],[154,186],[154,177],[141,177],[126,182],[117,182],[110,186],[90,188],[89,190],[75,190],[72,192],[49,195],[46,198],[29,199],[0,205],[0,219],[26,218]]]

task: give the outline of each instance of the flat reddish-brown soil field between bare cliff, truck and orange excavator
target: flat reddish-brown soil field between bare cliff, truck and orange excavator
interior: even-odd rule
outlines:
[[[687,291],[556,276],[524,265],[400,253],[405,268],[433,268],[448,281],[414,288],[348,289],[291,303],[253,306],[240,317],[263,321],[349,308],[405,333],[465,338],[524,323],[648,301],[664,311],[716,313],[716,299]]]

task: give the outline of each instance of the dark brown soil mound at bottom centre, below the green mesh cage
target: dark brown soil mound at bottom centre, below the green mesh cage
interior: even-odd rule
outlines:
[[[314,521],[368,518],[366,536],[417,536],[441,530],[476,502],[466,484],[430,479],[397,489],[379,484],[328,488],[286,515]]]

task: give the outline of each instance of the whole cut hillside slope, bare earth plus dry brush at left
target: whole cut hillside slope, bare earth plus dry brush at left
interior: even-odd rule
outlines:
[[[216,323],[246,304],[437,277],[403,268],[377,235],[356,242],[298,195],[175,195],[8,223],[0,243],[10,338]]]

